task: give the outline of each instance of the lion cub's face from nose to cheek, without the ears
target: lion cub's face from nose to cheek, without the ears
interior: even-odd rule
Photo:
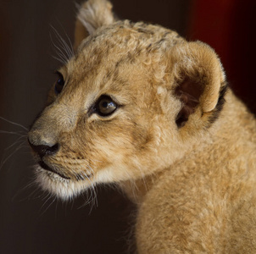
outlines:
[[[103,30],[58,70],[49,106],[29,134],[43,188],[69,197],[166,164],[160,150],[176,129],[177,112],[166,119],[161,108],[164,59],[153,48],[158,37],[148,32],[123,24]]]

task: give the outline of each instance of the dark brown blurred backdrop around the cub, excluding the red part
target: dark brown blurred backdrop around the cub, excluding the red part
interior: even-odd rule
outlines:
[[[74,2],[0,0],[1,117],[28,127],[42,109],[47,90],[56,78],[53,70],[58,68],[52,58],[50,25],[62,36],[66,32],[72,38]],[[120,18],[159,23],[186,35],[188,0],[112,2]],[[0,130],[23,129],[0,119]],[[29,185],[33,161],[25,136],[8,148],[17,138],[19,135],[0,133],[0,161],[21,146],[0,169],[0,253],[92,254],[125,250],[131,204],[116,191],[105,188],[98,190],[98,205],[92,212],[90,205],[81,207],[86,196],[68,204],[53,202]]]

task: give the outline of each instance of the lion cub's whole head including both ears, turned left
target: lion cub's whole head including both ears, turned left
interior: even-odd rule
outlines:
[[[63,198],[169,167],[221,108],[225,75],[210,47],[111,8],[82,6],[75,55],[29,133],[38,181]]]

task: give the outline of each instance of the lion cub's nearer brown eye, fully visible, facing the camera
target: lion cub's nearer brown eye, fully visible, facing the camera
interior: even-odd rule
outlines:
[[[117,108],[117,104],[108,96],[100,97],[95,106],[96,113],[100,116],[109,116]]]

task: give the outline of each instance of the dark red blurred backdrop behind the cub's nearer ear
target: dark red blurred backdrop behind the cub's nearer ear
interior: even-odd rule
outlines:
[[[189,37],[220,55],[232,90],[256,113],[254,0],[193,0]]]

